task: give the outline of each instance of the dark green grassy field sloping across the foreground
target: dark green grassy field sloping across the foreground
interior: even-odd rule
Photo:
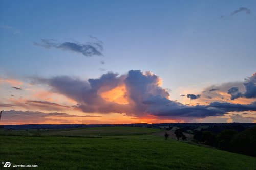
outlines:
[[[255,157],[165,140],[151,135],[156,131],[77,128],[40,131],[40,137],[28,136],[37,130],[1,131],[0,161],[38,165],[36,169],[256,169]]]

